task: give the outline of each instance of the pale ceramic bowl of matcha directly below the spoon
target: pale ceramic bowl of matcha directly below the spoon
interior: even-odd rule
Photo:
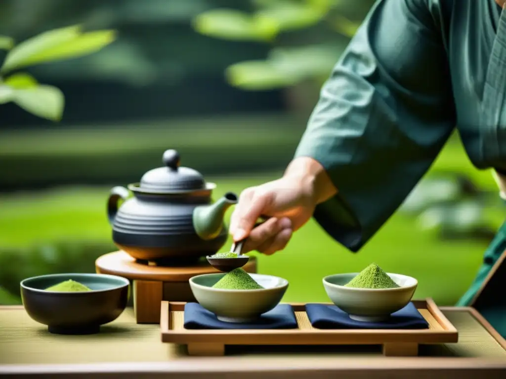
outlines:
[[[250,274],[263,289],[222,290],[213,288],[226,273],[203,274],[190,278],[193,296],[202,307],[226,322],[251,322],[279,304],[288,280],[271,275]]]

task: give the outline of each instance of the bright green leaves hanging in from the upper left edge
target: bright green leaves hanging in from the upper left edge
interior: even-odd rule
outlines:
[[[0,36],[0,48],[9,50],[0,68],[0,104],[13,102],[35,116],[60,121],[65,98],[59,88],[39,84],[25,72],[6,75],[28,66],[88,55],[114,39],[112,30],[83,32],[79,25],[50,30],[19,44]]]

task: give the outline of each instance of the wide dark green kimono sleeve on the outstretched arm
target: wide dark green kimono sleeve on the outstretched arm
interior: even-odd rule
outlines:
[[[358,251],[402,204],[455,127],[434,0],[379,0],[334,67],[296,157],[338,194],[314,218]]]

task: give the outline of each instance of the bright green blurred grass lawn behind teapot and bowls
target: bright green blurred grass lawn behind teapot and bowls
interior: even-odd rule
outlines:
[[[466,173],[480,186],[495,191],[490,173],[473,168],[458,140],[452,140],[445,147],[434,169]],[[207,179],[218,183],[218,197],[227,191],[240,193],[245,187],[278,175]],[[108,192],[109,187],[72,187],[0,195],[0,246],[26,247],[60,240],[110,241],[105,215]],[[496,226],[502,218],[502,210],[497,210]],[[271,257],[259,256],[259,271],[289,280],[285,301],[326,301],[323,276],[359,271],[376,262],[387,271],[416,277],[419,283],[416,297],[430,296],[439,304],[447,305],[453,304],[470,285],[485,245],[469,241],[441,242],[433,233],[421,231],[413,218],[395,214],[362,251],[353,254],[310,221],[293,236],[283,252]]]

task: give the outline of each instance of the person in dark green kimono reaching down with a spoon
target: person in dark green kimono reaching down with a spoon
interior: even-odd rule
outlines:
[[[245,189],[231,218],[245,251],[273,254],[312,216],[358,252],[456,129],[478,169],[506,172],[504,0],[377,0],[323,85],[294,159]],[[504,181],[506,182],[506,181]],[[255,227],[259,216],[270,217]],[[469,305],[506,249],[503,224]],[[506,316],[489,321],[506,335]]]

